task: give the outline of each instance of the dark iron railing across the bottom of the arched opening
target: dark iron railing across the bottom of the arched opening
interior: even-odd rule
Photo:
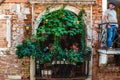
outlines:
[[[53,61],[51,64],[40,64],[36,59],[36,77],[44,78],[81,78],[89,75],[89,61],[69,64],[66,61]]]

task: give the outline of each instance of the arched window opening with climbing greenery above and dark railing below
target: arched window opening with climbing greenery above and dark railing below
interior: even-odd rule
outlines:
[[[84,61],[83,56],[80,58],[86,44],[82,14],[77,16],[69,10],[60,9],[43,15],[36,35],[47,58],[44,56],[36,59],[37,76],[47,78],[88,76],[89,61]],[[55,46],[55,52],[51,50],[53,46]],[[51,53],[47,53],[48,48]],[[77,52],[70,53],[69,50],[76,48]],[[54,55],[50,60],[50,65],[46,65],[48,61],[41,64],[40,62],[44,62],[45,58],[50,59],[50,54]],[[66,56],[66,54],[69,55]],[[75,59],[76,61],[81,59],[81,61],[74,63]]]

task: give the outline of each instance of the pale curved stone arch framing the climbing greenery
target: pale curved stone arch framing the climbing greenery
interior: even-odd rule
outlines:
[[[50,12],[59,10],[61,7],[62,7],[62,5],[56,6],[54,8],[50,8]],[[80,11],[78,8],[76,8],[74,6],[66,6],[65,10],[69,10],[76,15],[78,15],[78,13]],[[42,15],[44,15],[45,13],[46,13],[46,10],[44,10],[42,13],[40,13],[39,16],[36,18],[36,20],[34,21],[33,34],[36,34],[36,29],[38,28],[40,22],[42,21]],[[86,17],[86,16],[84,17],[84,19],[85,19],[85,27],[86,27],[86,38],[90,40],[90,39],[92,39],[91,21],[90,21],[90,18],[88,19],[88,17]]]

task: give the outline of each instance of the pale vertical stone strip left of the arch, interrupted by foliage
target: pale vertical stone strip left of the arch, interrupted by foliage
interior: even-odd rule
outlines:
[[[32,3],[32,34],[34,33],[34,3]],[[35,80],[35,60],[30,58],[30,80]]]

